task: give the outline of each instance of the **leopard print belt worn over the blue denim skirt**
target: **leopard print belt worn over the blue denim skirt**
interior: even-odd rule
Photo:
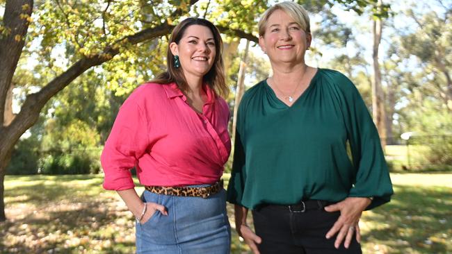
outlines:
[[[223,179],[207,187],[145,186],[145,189],[155,194],[170,196],[197,196],[208,198],[210,195],[217,194],[221,189],[223,189]]]

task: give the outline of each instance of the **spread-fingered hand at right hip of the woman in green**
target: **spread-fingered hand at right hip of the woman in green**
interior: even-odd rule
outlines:
[[[364,211],[370,203],[371,200],[369,198],[350,197],[335,203],[334,205],[325,207],[325,211],[327,212],[341,212],[339,219],[337,219],[330,231],[326,233],[327,239],[330,239],[333,235],[337,234],[336,242],[334,242],[335,248],[339,248],[342,242],[344,242],[344,246],[348,248],[355,231],[356,241],[361,242],[358,222],[360,221],[362,211]]]

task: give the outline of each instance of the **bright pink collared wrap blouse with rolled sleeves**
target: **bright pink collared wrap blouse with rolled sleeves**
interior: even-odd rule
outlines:
[[[215,183],[231,151],[229,107],[204,85],[202,114],[175,83],[140,85],[121,106],[101,162],[105,189],[131,189],[130,170],[142,185]]]

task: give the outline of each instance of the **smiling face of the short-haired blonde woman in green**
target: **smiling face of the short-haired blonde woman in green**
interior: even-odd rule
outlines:
[[[305,62],[306,49],[311,44],[311,34],[302,30],[283,10],[275,10],[266,23],[259,45],[272,65]]]

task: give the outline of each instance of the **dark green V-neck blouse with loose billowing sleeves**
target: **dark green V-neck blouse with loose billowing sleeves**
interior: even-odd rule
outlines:
[[[359,196],[373,197],[371,209],[389,202],[377,129],[355,85],[338,71],[318,69],[291,107],[261,81],[245,92],[237,117],[230,203],[254,209]]]

